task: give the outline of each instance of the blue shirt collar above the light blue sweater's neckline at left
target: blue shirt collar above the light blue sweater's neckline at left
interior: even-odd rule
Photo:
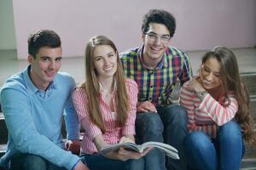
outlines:
[[[26,87],[29,88],[32,91],[32,93],[36,93],[39,91],[39,89],[34,85],[34,83],[32,82],[29,76],[30,70],[31,70],[31,65],[28,65],[26,67],[26,70],[23,71],[24,80],[26,83]],[[55,83],[55,81],[49,83],[49,88],[57,88],[57,84]],[[49,88],[47,88],[47,90],[49,90]]]

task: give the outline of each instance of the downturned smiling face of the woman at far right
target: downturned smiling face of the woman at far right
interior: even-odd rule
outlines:
[[[221,85],[220,63],[216,58],[210,57],[201,65],[201,83],[203,88],[218,88]]]

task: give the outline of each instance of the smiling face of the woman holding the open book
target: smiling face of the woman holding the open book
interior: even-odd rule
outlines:
[[[117,70],[117,54],[109,45],[99,45],[93,51],[93,64],[99,79],[113,77]]]

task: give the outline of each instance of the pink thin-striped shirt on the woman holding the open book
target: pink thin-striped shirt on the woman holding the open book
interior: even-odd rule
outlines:
[[[126,134],[135,134],[135,118],[138,92],[137,84],[130,79],[126,79],[125,85],[130,99],[130,110],[128,111],[128,118],[124,127],[115,126],[115,118],[113,116],[113,112],[110,110],[107,103],[102,99],[102,97],[100,97],[99,105],[101,105],[102,116],[106,127],[106,132],[103,134],[101,129],[90,121],[89,112],[87,109],[88,100],[84,88],[77,88],[74,91],[73,104],[75,106],[75,110],[78,113],[79,122],[85,129],[84,137],[81,143],[82,153],[93,154],[97,152],[96,145],[93,143],[93,139],[97,135],[102,135],[104,141],[107,144],[117,144],[122,136]],[[115,94],[116,91],[113,93],[113,98]],[[115,106],[114,101],[113,105]]]

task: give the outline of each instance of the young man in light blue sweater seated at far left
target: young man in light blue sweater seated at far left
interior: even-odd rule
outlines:
[[[0,167],[88,169],[62,142],[63,113],[67,139],[78,142],[79,123],[71,99],[75,82],[67,73],[58,72],[61,54],[61,39],[55,31],[32,34],[28,38],[29,65],[3,84],[1,102],[9,142]]]

